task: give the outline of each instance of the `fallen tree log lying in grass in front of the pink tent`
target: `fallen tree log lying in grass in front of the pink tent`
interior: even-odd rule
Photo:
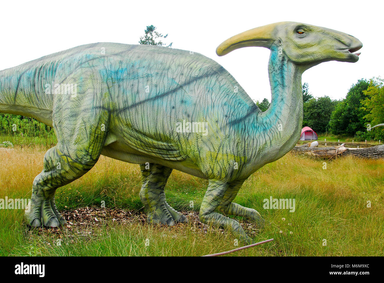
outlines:
[[[352,155],[356,157],[372,159],[384,158],[384,145],[377,145],[368,148],[349,148],[344,147],[344,145],[336,147],[295,146],[291,151],[326,159],[333,157],[337,158],[337,156],[344,155]]]

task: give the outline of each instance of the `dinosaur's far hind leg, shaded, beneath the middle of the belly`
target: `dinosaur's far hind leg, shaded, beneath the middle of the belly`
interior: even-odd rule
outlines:
[[[140,165],[143,184],[140,190],[140,199],[147,209],[149,223],[167,224],[172,226],[175,222],[187,222],[187,217],[175,211],[166,201],[164,187],[172,172],[172,168],[156,163]]]

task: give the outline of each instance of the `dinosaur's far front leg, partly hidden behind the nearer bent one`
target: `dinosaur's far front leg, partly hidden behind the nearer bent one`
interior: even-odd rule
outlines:
[[[257,225],[264,226],[264,219],[258,211],[252,208],[243,207],[240,204],[232,202],[235,199],[240,187],[244,181],[237,181],[231,183],[228,190],[225,192],[222,202],[218,209],[225,214],[230,214],[234,216],[241,216],[248,219],[255,220]]]

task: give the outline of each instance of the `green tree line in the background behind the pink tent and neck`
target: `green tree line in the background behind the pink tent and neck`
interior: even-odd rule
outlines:
[[[308,83],[303,84],[303,127],[317,133],[356,137],[356,140],[384,140],[384,128],[369,127],[384,123],[384,80],[359,79],[348,90],[346,97],[333,100],[328,95],[313,97]],[[266,111],[268,99],[255,101],[260,110]]]

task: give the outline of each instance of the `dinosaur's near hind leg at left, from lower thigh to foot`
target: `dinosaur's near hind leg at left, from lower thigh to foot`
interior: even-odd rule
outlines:
[[[89,132],[88,137],[93,138],[80,144],[65,139],[45,153],[44,169],[33,181],[31,201],[24,215],[28,225],[58,227],[65,224],[64,217],[56,209],[55,192],[83,176],[98,160],[104,133]]]

